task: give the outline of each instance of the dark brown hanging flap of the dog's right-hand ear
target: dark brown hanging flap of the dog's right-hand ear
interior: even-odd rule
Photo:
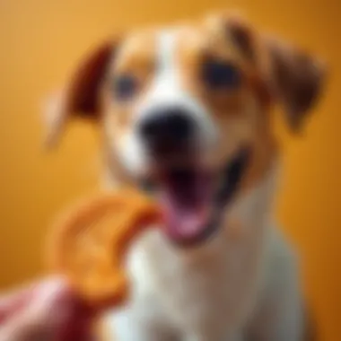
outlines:
[[[270,86],[284,108],[289,127],[298,131],[319,99],[326,66],[319,58],[279,39],[264,40],[271,63]]]

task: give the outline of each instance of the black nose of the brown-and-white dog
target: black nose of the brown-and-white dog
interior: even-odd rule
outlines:
[[[191,139],[195,122],[182,108],[158,109],[144,118],[140,134],[148,144],[181,144]]]

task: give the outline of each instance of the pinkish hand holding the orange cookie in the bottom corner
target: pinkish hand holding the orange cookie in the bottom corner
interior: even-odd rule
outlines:
[[[0,298],[0,341],[92,339],[95,312],[55,277]]]

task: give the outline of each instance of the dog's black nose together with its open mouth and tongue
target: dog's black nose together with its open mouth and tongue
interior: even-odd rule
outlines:
[[[147,111],[138,124],[150,164],[141,183],[158,197],[164,232],[182,246],[197,245],[221,225],[249,160],[242,148],[223,169],[213,169],[205,164],[201,133],[195,112],[169,104]]]

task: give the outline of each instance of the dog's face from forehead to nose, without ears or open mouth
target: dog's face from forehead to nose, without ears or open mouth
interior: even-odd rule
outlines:
[[[127,172],[222,166],[264,111],[255,71],[216,23],[128,37],[103,89],[104,127]]]

